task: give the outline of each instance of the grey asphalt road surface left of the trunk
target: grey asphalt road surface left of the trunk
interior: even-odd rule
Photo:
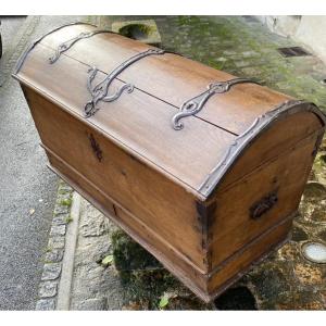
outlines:
[[[80,17],[1,17],[0,310],[35,309],[58,185],[46,166],[20,86],[10,74],[32,40],[77,20]]]

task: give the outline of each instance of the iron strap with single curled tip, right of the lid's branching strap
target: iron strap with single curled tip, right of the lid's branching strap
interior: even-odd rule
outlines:
[[[176,113],[172,118],[172,126],[175,130],[180,130],[184,128],[184,124],[180,122],[181,118],[190,115],[195,115],[200,112],[205,104],[205,102],[215,93],[223,93],[228,91],[233,86],[237,84],[252,83],[259,84],[251,79],[246,78],[235,78],[226,82],[214,82],[208,86],[208,90],[193,97],[190,100],[184,102],[180,106],[178,113]]]

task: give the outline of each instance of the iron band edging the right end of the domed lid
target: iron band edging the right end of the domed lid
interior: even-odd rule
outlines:
[[[273,123],[284,115],[294,114],[301,111],[310,111],[318,116],[322,123],[326,124],[325,114],[318,110],[318,108],[310,102],[304,102],[300,100],[289,100],[280,105],[276,106],[261,116],[256,117],[252,125],[241,135],[239,135],[234,142],[228,147],[227,152],[224,158],[218,162],[218,164],[211,171],[205,180],[199,187],[200,193],[204,197],[212,195],[216,185],[226,175],[226,172],[236,160],[240,156],[241,152],[252,143],[252,141]]]

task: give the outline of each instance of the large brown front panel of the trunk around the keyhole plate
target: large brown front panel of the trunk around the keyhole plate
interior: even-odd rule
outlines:
[[[42,143],[206,269],[195,197],[65,111],[25,90]],[[53,137],[55,135],[55,137]],[[99,161],[90,137],[101,151]]]

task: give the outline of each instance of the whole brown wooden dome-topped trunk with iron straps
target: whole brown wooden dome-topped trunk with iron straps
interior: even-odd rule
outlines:
[[[49,166],[210,301],[287,239],[324,115],[96,30],[62,26],[17,63]]]

